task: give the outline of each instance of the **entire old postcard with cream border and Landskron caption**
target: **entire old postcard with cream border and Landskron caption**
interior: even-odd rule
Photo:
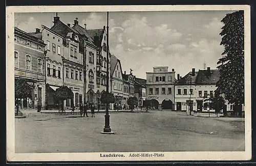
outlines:
[[[142,7],[7,7],[8,160],[251,158],[250,7]]]

